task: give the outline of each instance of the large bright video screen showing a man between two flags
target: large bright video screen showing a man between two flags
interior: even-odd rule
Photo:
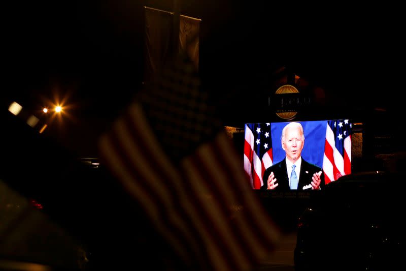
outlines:
[[[282,131],[285,126],[285,131],[296,131],[297,127],[300,131],[301,126],[303,137],[288,138],[290,134],[285,133],[283,142]],[[273,189],[278,183],[275,189],[310,190],[312,186],[309,182],[305,183],[305,179],[311,179],[314,173],[319,173],[322,179],[319,189],[351,173],[351,128],[350,119],[245,124],[244,170],[249,176],[251,187]],[[288,158],[297,155],[301,158],[298,160],[300,170],[297,172],[298,185],[295,188],[290,186],[292,169],[289,170],[289,166],[292,162]],[[268,168],[270,170],[266,171]],[[313,172],[318,169],[319,172]],[[273,176],[279,174],[273,186],[267,184],[270,172],[273,172]],[[266,179],[263,179],[264,174]]]

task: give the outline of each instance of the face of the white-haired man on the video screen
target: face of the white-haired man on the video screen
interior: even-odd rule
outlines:
[[[289,127],[285,131],[285,137],[282,138],[282,148],[286,152],[286,158],[292,163],[300,157],[303,149],[303,137],[300,128]]]

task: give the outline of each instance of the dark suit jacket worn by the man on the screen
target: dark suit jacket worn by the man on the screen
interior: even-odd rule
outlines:
[[[288,171],[286,169],[286,158],[282,160],[279,163],[276,163],[270,167],[268,167],[263,176],[263,186],[261,186],[261,190],[266,190],[268,187],[268,176],[271,171],[274,172],[275,178],[277,178],[276,182],[279,184],[275,190],[276,191],[288,191],[290,190],[289,187],[289,177],[288,177]],[[297,185],[297,190],[298,191],[303,191],[303,186],[308,186],[311,185],[312,183],[312,177],[313,174],[316,172],[319,172],[322,170],[320,167],[311,164],[309,162],[304,161],[303,158],[301,158],[301,166],[300,166],[300,174],[299,174],[299,183]],[[320,182],[320,188],[323,189],[324,186],[324,173],[321,173],[321,182]],[[310,190],[312,187],[309,188]]]

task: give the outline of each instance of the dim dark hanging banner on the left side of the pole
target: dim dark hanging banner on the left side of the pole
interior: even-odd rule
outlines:
[[[152,81],[171,56],[173,13],[145,7],[144,81]]]

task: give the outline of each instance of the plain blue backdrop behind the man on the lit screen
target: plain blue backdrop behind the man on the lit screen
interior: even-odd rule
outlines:
[[[327,121],[311,121],[298,123],[303,126],[304,131],[304,147],[301,152],[302,158],[309,163],[322,167]],[[282,129],[287,124],[288,122],[270,124],[274,164],[282,161],[285,158],[285,150],[283,150],[282,148],[281,136]]]

